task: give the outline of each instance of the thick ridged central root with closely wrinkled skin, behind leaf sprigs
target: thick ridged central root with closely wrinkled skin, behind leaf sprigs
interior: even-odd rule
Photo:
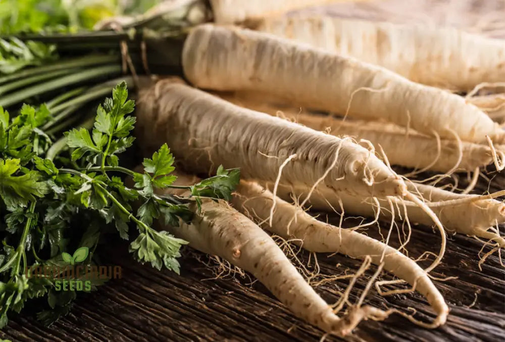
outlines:
[[[147,150],[168,143],[177,161],[193,172],[212,172],[223,165],[239,167],[244,178],[273,182],[285,164],[281,180],[288,184],[312,186],[321,180],[341,191],[372,196],[406,192],[396,174],[350,140],[247,110],[174,82],[161,81],[140,92],[136,132]]]

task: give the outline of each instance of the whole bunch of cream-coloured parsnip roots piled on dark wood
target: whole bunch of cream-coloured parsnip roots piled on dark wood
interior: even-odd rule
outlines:
[[[137,139],[146,154],[170,146],[187,172],[179,172],[176,184],[194,185],[196,175],[213,175],[220,165],[240,168],[242,180],[229,203],[203,199],[189,206],[191,222],[159,228],[252,273],[294,314],[325,332],[345,335],[361,320],[391,313],[435,328],[445,323],[448,307],[429,272],[443,262],[446,231],[486,239],[488,254],[505,247],[497,228],[505,223],[505,205],[496,200],[503,193],[468,194],[481,167],[504,167],[505,131],[487,114],[499,110],[503,97],[472,95],[480,84],[502,79],[505,42],[448,29],[283,17],[328,2],[170,1],[137,18],[103,22],[102,31],[70,44],[121,46],[123,70],[133,74],[138,90]],[[62,35],[30,38],[55,43],[59,51],[69,41]],[[153,70],[185,80],[139,75]],[[391,165],[414,171],[398,174]],[[424,171],[444,174],[414,181]],[[435,186],[460,171],[474,172],[461,193]],[[186,194],[184,187],[165,191]],[[336,227],[306,213],[310,205],[375,220]],[[409,229],[410,222],[438,229],[440,250],[426,269],[400,252],[410,234],[394,249],[388,246],[392,229],[383,241],[356,230],[378,219],[390,220],[392,228],[398,217]],[[363,266],[331,307],[264,229],[311,252],[362,259]],[[378,265],[375,275],[350,304],[352,285],[371,263]],[[363,305],[383,269],[399,278],[393,283],[408,282],[425,296],[436,318],[420,322]]]

